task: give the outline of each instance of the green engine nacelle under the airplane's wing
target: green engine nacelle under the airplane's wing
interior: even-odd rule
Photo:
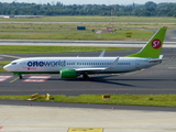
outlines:
[[[65,69],[65,70],[61,70],[61,78],[77,78],[77,72],[75,70],[69,70],[69,69]]]

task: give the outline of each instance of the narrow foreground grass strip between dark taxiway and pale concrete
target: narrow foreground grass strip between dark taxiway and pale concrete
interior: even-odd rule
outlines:
[[[52,97],[54,98],[54,100],[50,100],[52,102],[176,107],[176,95],[112,95],[110,99],[102,99],[102,95],[77,97],[54,95]],[[0,96],[0,99],[11,100],[28,100],[30,98],[31,96]],[[40,96],[36,101],[46,101],[45,96]]]

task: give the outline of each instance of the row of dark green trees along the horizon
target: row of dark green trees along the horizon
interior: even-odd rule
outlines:
[[[111,15],[111,9],[116,15],[135,16],[176,16],[176,3],[158,3],[148,1],[145,4],[106,6],[106,4],[70,4],[61,2],[55,4],[36,3],[2,3],[1,15]]]

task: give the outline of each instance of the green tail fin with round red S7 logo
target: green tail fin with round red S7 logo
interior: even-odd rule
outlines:
[[[125,57],[158,58],[162,52],[166,30],[166,28],[161,28],[139,53]]]

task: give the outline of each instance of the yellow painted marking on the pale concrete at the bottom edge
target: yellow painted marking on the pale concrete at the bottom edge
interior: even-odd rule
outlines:
[[[94,129],[94,128],[69,128],[68,132],[103,132],[103,129]]]

